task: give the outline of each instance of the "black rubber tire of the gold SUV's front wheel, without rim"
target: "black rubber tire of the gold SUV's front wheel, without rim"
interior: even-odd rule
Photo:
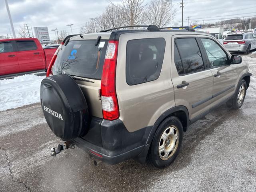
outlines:
[[[240,93],[241,86],[244,86],[244,96],[243,96],[242,100],[240,100],[240,102],[238,102],[238,94]],[[244,79],[242,79],[240,81],[240,83],[238,84],[238,87],[236,88],[236,92],[235,92],[233,98],[231,98],[226,103],[227,106],[230,107],[230,108],[233,108],[233,109],[239,109],[244,103],[244,98],[246,96],[246,90],[247,90],[246,81]]]

